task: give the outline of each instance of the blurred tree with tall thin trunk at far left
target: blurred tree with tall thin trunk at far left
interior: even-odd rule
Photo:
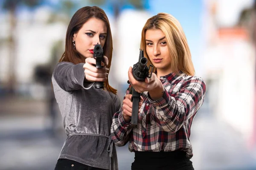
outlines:
[[[15,94],[15,85],[16,85],[16,77],[15,77],[15,28],[17,23],[17,8],[20,6],[27,6],[29,8],[34,8],[38,6],[43,0],[3,0],[2,8],[4,10],[9,11],[9,21],[10,21],[10,29],[9,29],[9,75],[7,82],[7,93],[9,95]]]

